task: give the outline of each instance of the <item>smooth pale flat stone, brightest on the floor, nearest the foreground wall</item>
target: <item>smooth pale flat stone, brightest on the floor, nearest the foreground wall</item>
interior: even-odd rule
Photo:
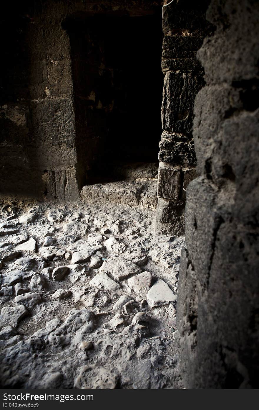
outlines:
[[[150,307],[169,305],[170,302],[176,301],[176,295],[171,291],[166,282],[158,279],[149,289],[146,301]]]

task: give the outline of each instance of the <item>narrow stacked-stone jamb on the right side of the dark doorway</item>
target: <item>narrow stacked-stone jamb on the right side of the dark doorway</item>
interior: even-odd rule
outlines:
[[[182,234],[184,230],[185,191],[196,176],[193,106],[204,77],[196,52],[212,32],[212,25],[205,19],[208,4],[209,1],[175,1],[164,8],[157,233]]]

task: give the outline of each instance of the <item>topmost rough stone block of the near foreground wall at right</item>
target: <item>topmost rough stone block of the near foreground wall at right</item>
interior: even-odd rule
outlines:
[[[198,58],[205,68],[206,82],[231,84],[233,80],[257,77],[258,4],[251,5],[249,0],[223,3],[214,1],[208,9],[207,16],[220,28],[212,38],[204,41],[198,52]]]

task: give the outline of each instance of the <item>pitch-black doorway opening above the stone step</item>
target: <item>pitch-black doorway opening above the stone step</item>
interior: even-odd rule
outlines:
[[[123,164],[158,162],[160,11],[134,17],[95,15],[65,23],[82,185],[119,179],[116,170]]]

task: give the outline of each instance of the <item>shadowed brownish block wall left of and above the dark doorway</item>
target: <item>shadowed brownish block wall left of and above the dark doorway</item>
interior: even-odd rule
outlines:
[[[1,101],[2,195],[79,198],[86,164],[75,133],[70,41],[62,23],[82,14],[148,14],[161,5],[147,0],[7,5],[3,55],[10,72]]]

